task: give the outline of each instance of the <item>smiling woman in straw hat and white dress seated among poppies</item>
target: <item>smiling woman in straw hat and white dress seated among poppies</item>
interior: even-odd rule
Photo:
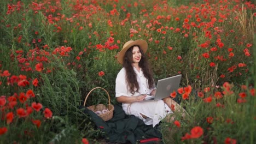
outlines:
[[[123,64],[115,81],[115,97],[122,103],[127,115],[135,115],[145,124],[155,127],[175,109],[184,109],[170,97],[156,101],[144,101],[147,95],[155,95],[153,72],[145,53],[148,44],[144,40],[127,41],[118,54],[118,62]],[[172,117],[173,118],[173,117]]]

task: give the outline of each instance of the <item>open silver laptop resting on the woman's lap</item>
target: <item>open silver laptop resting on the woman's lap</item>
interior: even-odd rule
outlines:
[[[173,91],[177,92],[177,89],[179,88],[179,83],[181,82],[181,77],[182,75],[176,75],[168,77],[166,79],[158,80],[155,97],[154,95],[147,95],[144,100],[159,100],[170,97],[170,94]]]

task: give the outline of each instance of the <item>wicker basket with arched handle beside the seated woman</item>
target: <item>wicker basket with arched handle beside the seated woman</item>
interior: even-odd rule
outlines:
[[[97,88],[100,88],[100,89],[103,89],[107,94],[108,92],[106,91],[106,89],[102,88],[102,87],[95,87],[95,88],[92,88],[91,91],[86,95],[86,98],[84,100],[84,106],[86,104],[86,100],[89,96],[89,94],[94,91],[94,89],[97,89]],[[103,105],[103,104],[98,104],[98,105],[92,105],[92,106],[88,106],[87,107],[89,110],[93,111],[93,112],[96,112],[96,111],[102,111],[104,109],[108,109],[108,112],[106,113],[103,113],[101,115],[98,115],[100,116],[104,121],[108,121],[109,119],[111,119],[113,117],[113,112],[114,112],[114,106],[112,104],[110,104],[110,97],[109,97],[109,94],[108,94],[108,106],[106,105]]]

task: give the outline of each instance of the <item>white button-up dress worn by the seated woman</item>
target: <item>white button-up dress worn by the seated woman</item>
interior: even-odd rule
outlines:
[[[126,71],[122,68],[115,80],[115,97],[120,97],[121,95],[127,97],[138,96],[142,94],[150,94],[153,89],[148,88],[148,83],[146,77],[143,75],[142,70],[137,70],[133,67],[135,73],[137,74],[137,81],[139,84],[139,91],[135,92],[135,94],[131,94],[126,83]],[[135,115],[136,117],[143,120],[143,122],[147,125],[153,125],[155,127],[168,113],[171,113],[171,109],[164,103],[163,100],[149,100],[149,101],[140,101],[132,104],[122,104],[123,110],[126,115]],[[145,115],[148,118],[145,119],[141,116]]]

